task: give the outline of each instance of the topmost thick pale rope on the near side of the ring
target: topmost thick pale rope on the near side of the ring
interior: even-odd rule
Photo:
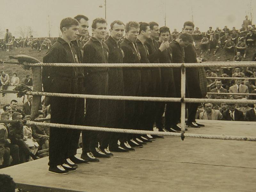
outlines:
[[[50,66],[50,67],[182,67],[182,63],[28,63],[28,66]],[[184,67],[256,67],[254,61],[237,62],[204,62],[204,63],[184,63]]]

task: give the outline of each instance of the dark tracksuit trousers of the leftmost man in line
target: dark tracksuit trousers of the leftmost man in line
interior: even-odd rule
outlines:
[[[52,87],[57,93],[77,92],[77,79],[58,77],[53,80]],[[51,97],[51,123],[75,124],[76,98]],[[57,166],[69,158],[68,149],[71,145],[72,129],[50,127],[49,166]]]

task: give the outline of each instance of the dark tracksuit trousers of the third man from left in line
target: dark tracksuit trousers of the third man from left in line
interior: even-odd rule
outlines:
[[[108,72],[92,72],[85,75],[85,94],[107,95]],[[105,127],[106,125],[106,104],[100,99],[86,99],[84,124],[93,127]],[[98,143],[104,139],[104,132],[82,131],[83,153],[91,151],[91,148],[98,147]]]

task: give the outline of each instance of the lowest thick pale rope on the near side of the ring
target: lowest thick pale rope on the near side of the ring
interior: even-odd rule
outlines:
[[[54,124],[54,123],[39,123],[34,121],[27,121],[27,125],[41,125],[50,126],[55,128],[66,128],[66,129],[80,129],[80,130],[92,130],[92,131],[105,131],[105,132],[118,132],[118,133],[133,133],[133,134],[152,134],[152,135],[163,135],[163,136],[174,136],[180,137],[181,133],[174,132],[157,132],[157,131],[142,131],[142,130],[130,130],[130,129],[114,129],[105,127],[91,127],[81,125],[67,125],[67,124]],[[231,135],[208,135],[208,134],[195,134],[195,133],[184,133],[185,137],[190,138],[201,138],[201,139],[219,139],[219,140],[244,140],[244,141],[256,141],[256,137],[247,136],[231,136]]]

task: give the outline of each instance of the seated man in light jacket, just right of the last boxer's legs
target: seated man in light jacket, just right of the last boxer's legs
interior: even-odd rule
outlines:
[[[203,104],[205,111],[200,113],[200,119],[204,120],[221,120],[222,114],[219,110],[212,109],[212,103]]]

